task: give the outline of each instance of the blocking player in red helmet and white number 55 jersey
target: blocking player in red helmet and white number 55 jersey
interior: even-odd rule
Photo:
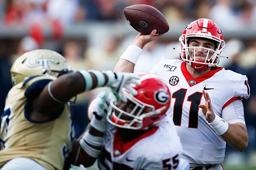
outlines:
[[[166,116],[168,86],[156,75],[143,74],[140,80],[134,86],[137,95],[123,88],[127,102],[111,94],[91,102],[90,127],[76,141],[79,147],[73,148],[69,163],[87,167],[97,159],[101,170],[189,170],[188,161],[180,158],[175,125]]]

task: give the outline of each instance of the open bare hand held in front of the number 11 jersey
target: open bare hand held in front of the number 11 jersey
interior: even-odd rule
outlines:
[[[215,119],[215,114],[212,110],[212,103],[210,96],[207,92],[203,90],[204,99],[205,99],[205,105],[199,105],[199,107],[202,109],[202,112],[204,113],[204,116],[208,123],[211,123]]]

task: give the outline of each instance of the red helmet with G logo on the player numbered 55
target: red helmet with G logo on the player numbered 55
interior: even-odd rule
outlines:
[[[141,85],[134,85],[138,92],[132,96],[123,88],[128,102],[110,102],[107,120],[121,128],[144,130],[157,126],[170,106],[170,91],[164,80],[156,75],[139,75]]]

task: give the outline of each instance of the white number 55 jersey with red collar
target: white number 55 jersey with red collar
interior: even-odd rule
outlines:
[[[159,127],[123,142],[119,131],[108,125],[104,147],[98,159],[101,170],[184,170],[189,163],[180,159],[182,146],[172,119],[166,116]]]

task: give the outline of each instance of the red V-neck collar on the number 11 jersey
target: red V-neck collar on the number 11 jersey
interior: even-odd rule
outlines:
[[[212,77],[215,73],[217,73],[218,71],[221,71],[223,68],[222,67],[212,67],[210,71],[208,71],[206,74],[200,76],[200,77],[196,77],[193,78],[191,76],[191,74],[187,71],[186,69],[186,62],[182,62],[181,63],[181,72],[183,74],[183,76],[185,77],[189,87],[192,87],[193,85],[196,85],[206,79],[209,79],[210,77]],[[190,84],[189,81],[194,80],[195,84]]]

